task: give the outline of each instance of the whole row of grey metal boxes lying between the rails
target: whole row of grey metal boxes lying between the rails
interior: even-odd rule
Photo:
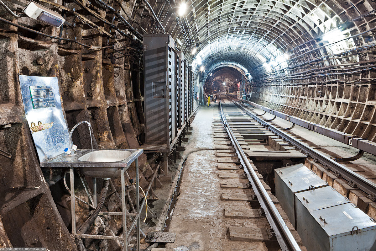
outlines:
[[[308,251],[376,250],[374,219],[308,167],[274,172],[276,197]]]

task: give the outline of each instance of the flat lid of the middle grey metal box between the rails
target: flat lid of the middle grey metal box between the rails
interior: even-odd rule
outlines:
[[[349,199],[342,196],[331,186],[296,193],[295,196],[308,211],[350,203]]]

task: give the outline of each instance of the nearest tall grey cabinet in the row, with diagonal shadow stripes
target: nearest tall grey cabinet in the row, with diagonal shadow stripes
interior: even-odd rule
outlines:
[[[174,41],[170,35],[143,35],[145,143],[167,143],[176,135]]]

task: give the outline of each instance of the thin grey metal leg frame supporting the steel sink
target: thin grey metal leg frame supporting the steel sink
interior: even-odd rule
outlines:
[[[139,183],[138,183],[138,157],[135,159],[136,164],[136,198],[139,198]],[[130,165],[130,164],[129,164]],[[121,204],[122,210],[120,212],[100,212],[99,214],[104,215],[117,215],[123,216],[123,236],[108,236],[108,235],[96,235],[96,234],[77,234],[76,232],[76,210],[75,210],[75,196],[74,196],[74,168],[70,167],[70,190],[71,190],[71,217],[72,217],[72,234],[77,235],[82,238],[90,238],[90,239],[106,239],[106,240],[120,240],[124,242],[124,246],[121,250],[127,251],[128,250],[128,237],[130,233],[132,233],[133,227],[136,226],[137,232],[137,251],[139,251],[139,243],[140,243],[140,205],[139,199],[136,199],[137,206],[136,206],[136,213],[127,213],[126,210],[126,192],[125,192],[125,171],[129,168],[128,167],[121,167]],[[97,178],[94,178],[94,207],[97,206]],[[126,216],[133,216],[132,224],[130,225],[129,229],[127,230],[127,218]]]

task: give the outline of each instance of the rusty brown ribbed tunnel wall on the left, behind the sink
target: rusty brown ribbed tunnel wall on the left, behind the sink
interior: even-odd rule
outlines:
[[[57,77],[69,129],[77,122],[89,121],[96,139],[94,148],[139,148],[144,129],[143,86],[140,85],[143,83],[142,46],[129,32],[121,33],[120,29],[115,32],[106,24],[112,21],[113,27],[129,28],[122,27],[124,23],[118,24],[114,16],[121,8],[132,8],[133,2],[124,2],[124,6],[121,1],[111,2],[114,12],[106,12],[89,2],[38,2],[53,10],[62,9],[74,27],[64,27],[60,34],[70,41],[58,41],[2,23],[0,150],[12,158],[0,155],[0,224],[3,225],[0,246],[77,250],[69,233],[70,200],[61,181],[65,170],[39,166],[24,114],[18,75]],[[11,2],[6,4],[12,9],[20,8]],[[59,36],[59,29],[30,18],[14,19],[3,8],[0,16],[38,32]],[[114,44],[123,47],[115,51]],[[88,133],[85,126],[79,126],[74,132],[73,141],[78,148],[90,147]],[[153,170],[144,154],[139,168],[140,184],[145,187]],[[127,175],[134,177],[134,164]],[[89,185],[92,184],[89,182]],[[77,189],[83,195],[83,187]],[[120,181],[116,179],[112,191],[115,189],[120,190]],[[134,199],[134,194],[131,197]],[[77,200],[76,203],[83,207],[77,217],[85,216],[88,208]],[[118,223],[118,220],[107,222],[108,226],[118,225],[119,229]],[[110,250],[117,248],[112,246]]]

